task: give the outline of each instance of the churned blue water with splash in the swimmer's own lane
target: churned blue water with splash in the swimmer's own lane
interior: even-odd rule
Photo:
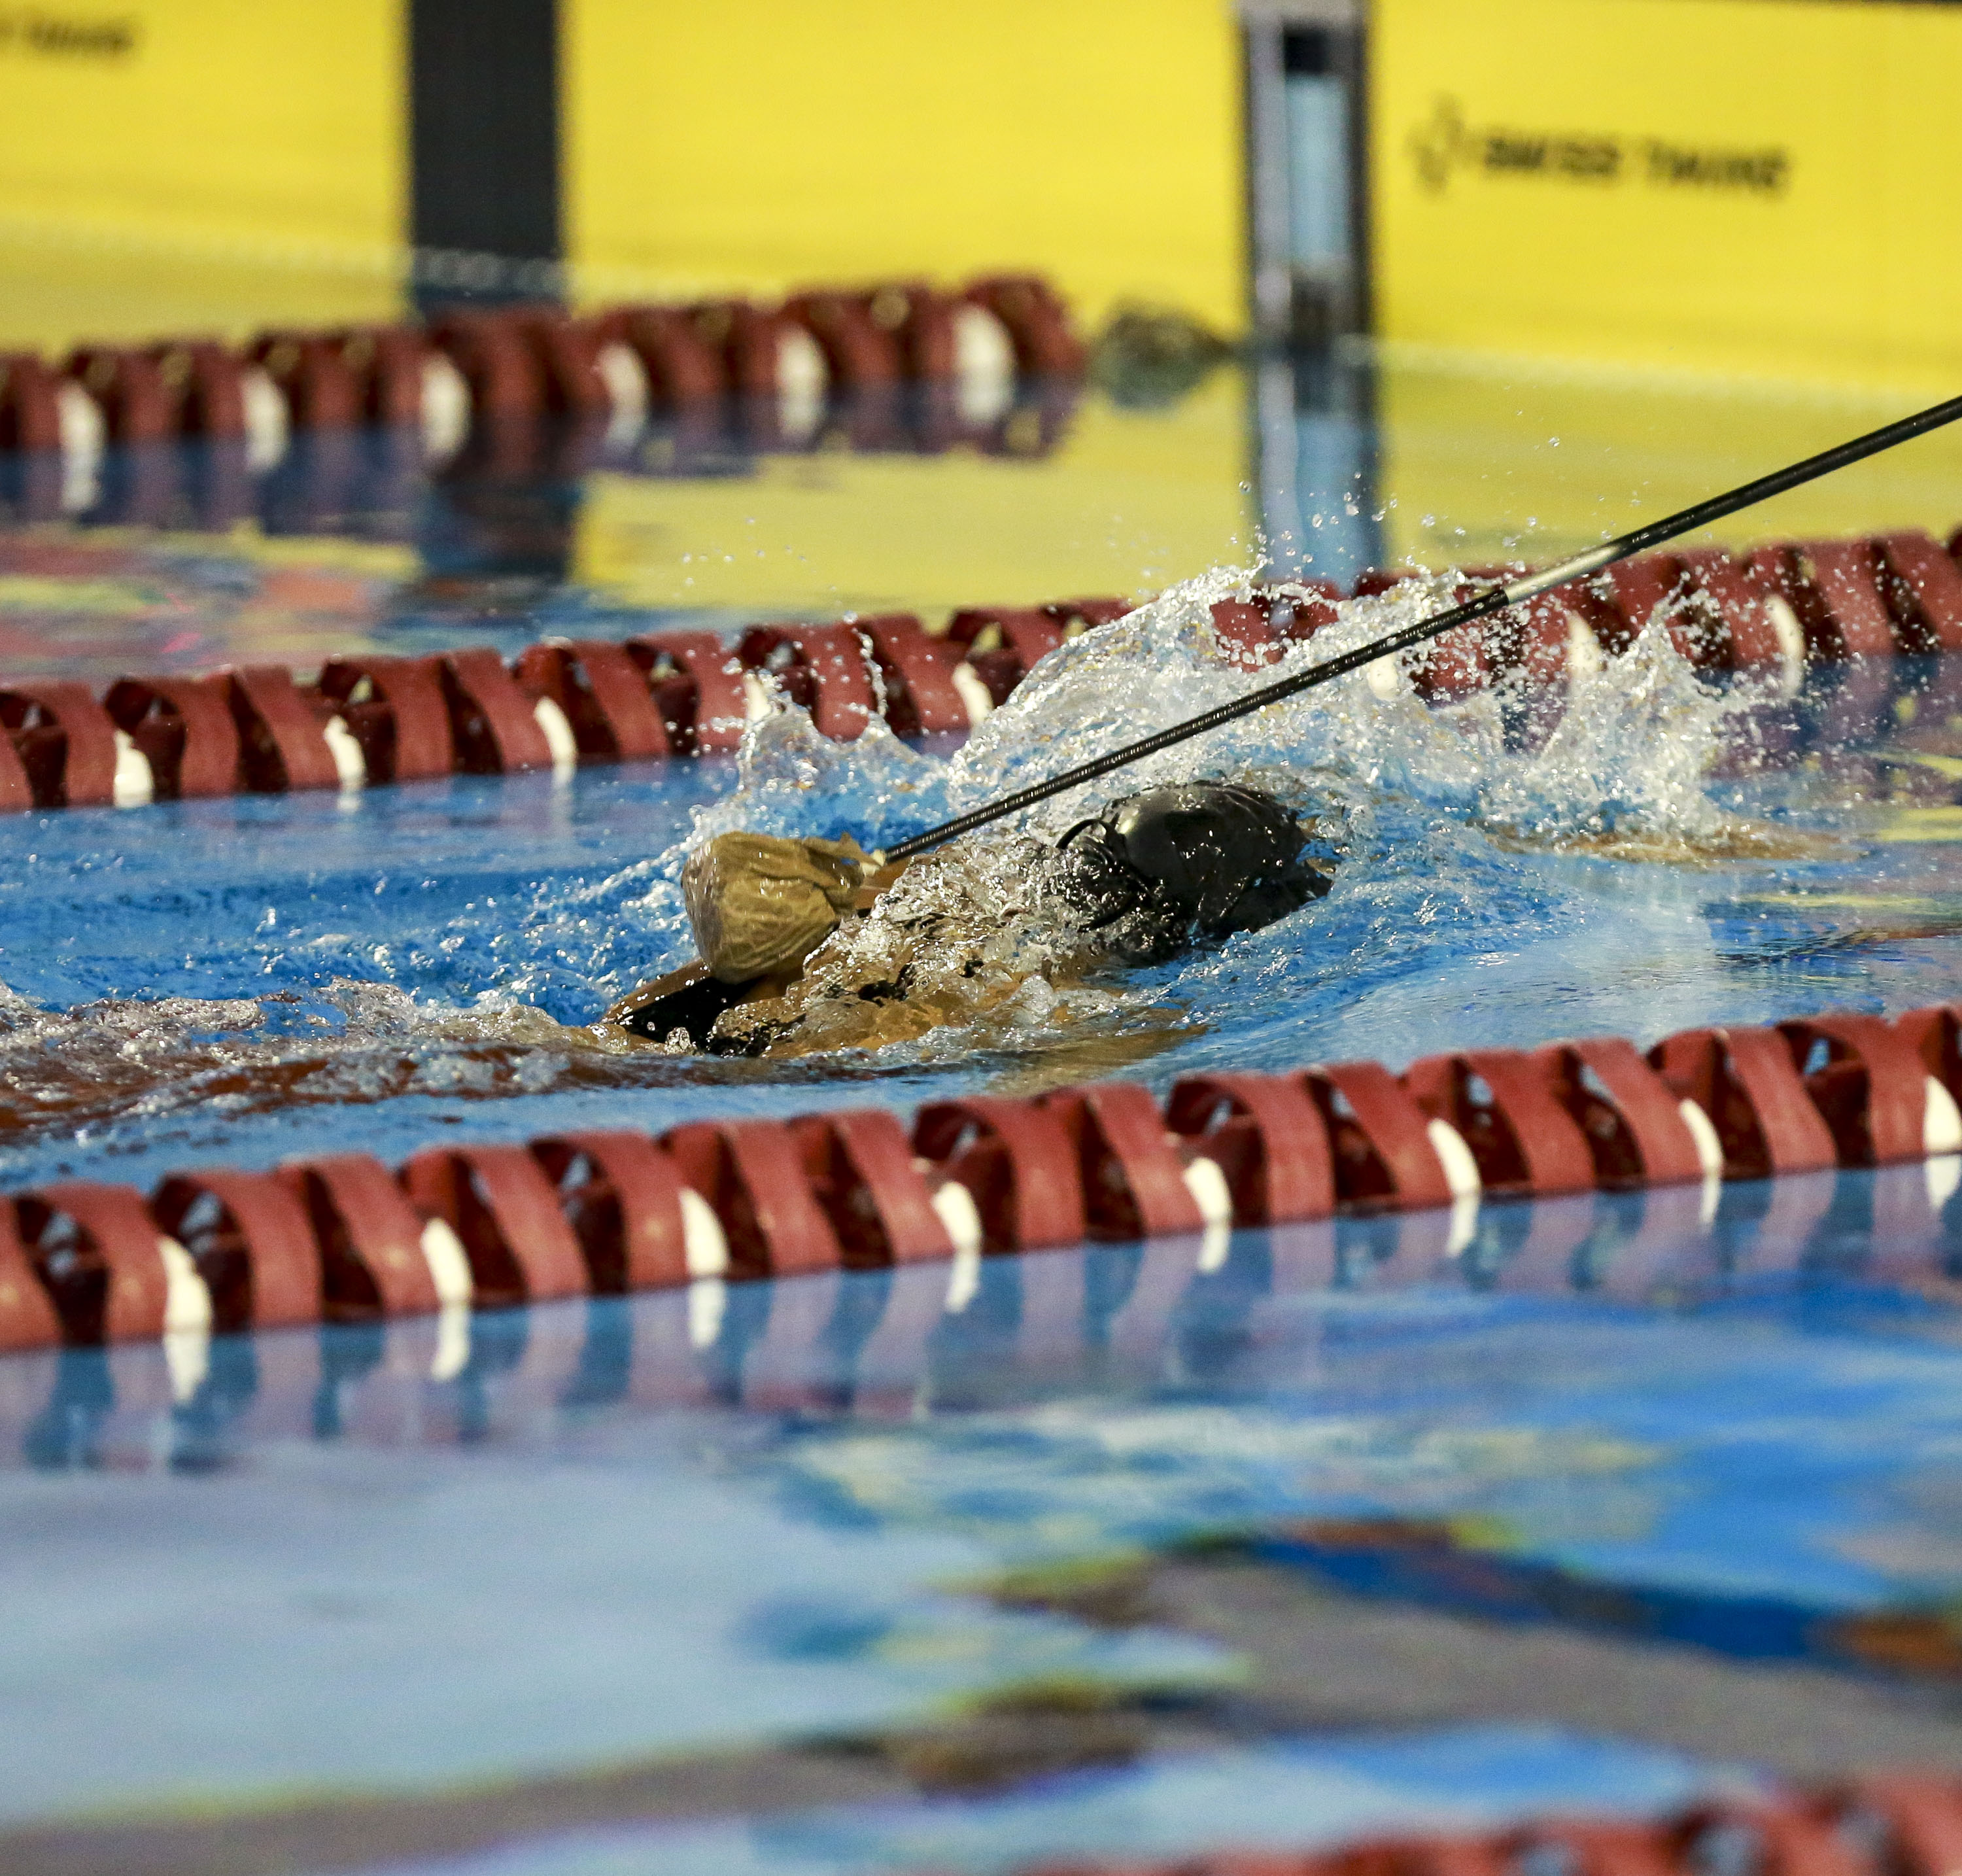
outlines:
[[[950,759],[877,722],[832,744],[785,708],[751,730],[734,777],[693,763],[587,771],[561,791],[459,779],[349,807],[71,810],[4,830],[0,1152],[16,1150],[0,1164],[167,1140],[271,1154],[292,1150],[296,1117],[316,1115],[312,1138],[320,1115],[377,1103],[392,1130],[336,1122],[336,1140],[394,1142],[424,1124],[416,1115],[492,1109],[512,1132],[591,1124],[634,1091],[661,1117],[808,1107],[808,1083],[836,1075],[885,1077],[904,1099],[1148,1058],[1162,1058],[1154,1077],[1403,1060],[1444,1042],[1815,1009],[1846,1001],[1848,958],[1864,1003],[1952,973],[1962,899],[1946,850],[1823,846],[1821,830],[1858,836],[1860,789],[1817,761],[1772,789],[1738,781],[1768,699],[1701,681],[1652,624],[1575,677],[1558,722],[1505,687],[1424,703],[1428,653],[1407,653],[977,836],[955,883],[969,924],[1012,956],[1014,995],[955,1026],[818,1064],[673,1058],[587,1026],[691,954],[677,875],[712,834],[885,846],[1407,624],[1446,591],[1411,583],[1350,602],[1313,648],[1246,669],[1209,624],[1211,602],[1244,581],[1214,571],[1067,644]],[[1322,816],[1340,850],[1334,891],[1175,964],[1052,985],[1061,940],[1018,897],[1024,844],[1193,777],[1254,783]],[[946,893],[948,865],[901,893]],[[1919,897],[1901,891],[1909,875]],[[1793,895],[1842,909],[1780,911]],[[1911,897],[1917,911],[1885,911]]]

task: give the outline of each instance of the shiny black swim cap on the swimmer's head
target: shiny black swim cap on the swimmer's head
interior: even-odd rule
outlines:
[[[1128,964],[1158,964],[1197,938],[1254,932],[1328,891],[1307,834],[1260,789],[1195,781],[1150,789],[1079,820],[1063,897]]]

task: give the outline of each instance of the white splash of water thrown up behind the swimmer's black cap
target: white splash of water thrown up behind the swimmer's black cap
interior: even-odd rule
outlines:
[[[1420,579],[1344,600],[1311,644],[1250,669],[1222,653],[1211,606],[1246,599],[1252,575],[1216,567],[1052,651],[946,763],[908,750],[881,722],[834,744],[802,710],[783,708],[751,726],[736,791],[697,810],[687,846],[728,828],[889,842],[1430,616],[1450,604],[1452,585]],[[1338,677],[1003,826],[1056,832],[1122,795],[1195,777],[1338,807],[1403,797],[1542,840],[1642,832],[1693,842],[1723,824],[1703,779],[1727,724],[1760,695],[1703,683],[1660,616],[1623,655],[1572,677],[1544,740],[1507,732],[1509,716],[1517,722],[1536,706],[1523,671],[1460,703],[1424,703],[1413,679],[1438,655],[1403,653],[1393,683],[1383,683],[1383,667]]]

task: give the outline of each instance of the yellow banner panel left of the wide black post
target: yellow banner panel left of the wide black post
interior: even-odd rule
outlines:
[[[0,4],[0,345],[400,304],[398,0]]]

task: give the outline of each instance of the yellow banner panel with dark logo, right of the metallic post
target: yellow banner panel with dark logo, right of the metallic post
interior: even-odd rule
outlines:
[[[1962,389],[1962,10],[1377,0],[1393,341]]]

